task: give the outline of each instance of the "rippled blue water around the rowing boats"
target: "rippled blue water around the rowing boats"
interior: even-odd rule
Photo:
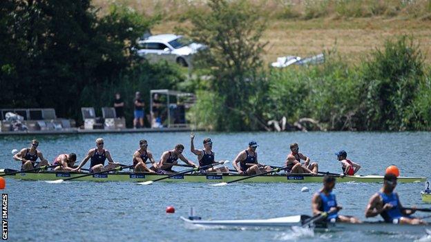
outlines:
[[[40,136],[39,150],[48,161],[57,154],[75,152],[82,159],[93,148],[99,134],[75,136]],[[298,142],[300,151],[317,161],[321,171],[341,172],[334,152],[344,149],[349,159],[361,163],[360,174],[383,174],[388,165],[398,165],[401,175],[430,177],[431,135],[428,132],[356,133],[356,132],[287,132],[287,133],[198,133],[196,144],[213,139],[216,159],[232,161],[256,139],[259,160],[282,165],[289,144]],[[12,161],[11,150],[27,147],[33,137],[0,137],[1,168],[19,168]],[[131,163],[140,139],[149,141],[156,159],[176,143],[189,151],[189,133],[104,134],[105,148],[113,159]],[[88,165],[86,165],[88,166]],[[229,165],[231,166],[231,165]],[[10,241],[431,241],[422,235],[337,232],[312,234],[310,231],[284,230],[202,230],[186,228],[179,216],[186,216],[193,206],[204,219],[256,219],[291,214],[310,214],[310,200],[321,184],[236,183],[211,187],[204,183],[90,183],[48,184],[43,181],[7,179],[9,196]],[[300,192],[307,186],[310,192]],[[343,205],[341,214],[361,219],[365,205],[381,184],[339,183],[334,192]],[[405,206],[422,203],[423,184],[400,184],[396,188]],[[175,214],[166,214],[173,205]],[[420,214],[425,216],[428,214]]]

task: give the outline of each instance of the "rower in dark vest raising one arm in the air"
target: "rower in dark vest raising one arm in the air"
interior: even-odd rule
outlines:
[[[193,143],[193,139],[195,139],[195,134],[190,134],[190,151],[198,156],[199,166],[202,167],[204,165],[211,165],[213,163],[216,163],[214,161],[215,152],[213,152],[213,141],[211,139],[207,138],[204,139],[204,149],[202,150],[196,150],[195,145]],[[208,168],[207,170],[200,170],[202,173],[211,173],[211,172],[222,172],[222,173],[229,173],[229,168],[226,166],[223,166],[221,168]]]

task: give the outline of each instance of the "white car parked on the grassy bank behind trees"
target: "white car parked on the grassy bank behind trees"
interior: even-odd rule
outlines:
[[[182,35],[156,34],[137,41],[136,53],[150,62],[169,61],[191,67],[193,54],[204,48],[200,43],[193,43]]]

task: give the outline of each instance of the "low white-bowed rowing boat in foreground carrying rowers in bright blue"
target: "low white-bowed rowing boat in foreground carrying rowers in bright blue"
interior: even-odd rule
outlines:
[[[242,219],[242,220],[200,220],[180,217],[186,224],[204,228],[286,228],[303,226],[310,219],[307,215],[283,216],[274,219]],[[331,223],[319,222],[309,226],[316,231],[370,231],[388,233],[421,234],[431,231],[431,225],[400,225],[383,221],[363,223]]]

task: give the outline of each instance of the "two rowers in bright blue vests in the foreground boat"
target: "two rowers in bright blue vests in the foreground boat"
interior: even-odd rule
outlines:
[[[398,194],[394,192],[396,179],[395,174],[385,174],[383,188],[371,197],[365,209],[365,217],[368,218],[380,214],[386,223],[427,224],[426,221],[411,216],[416,212],[415,206],[412,209],[403,208]],[[313,215],[325,213],[325,219],[332,223],[362,223],[361,220],[354,216],[338,214],[338,211],[342,207],[338,205],[335,194],[332,192],[335,181],[335,177],[332,176],[325,176],[323,178],[323,188],[319,192],[316,192],[312,198]]]

